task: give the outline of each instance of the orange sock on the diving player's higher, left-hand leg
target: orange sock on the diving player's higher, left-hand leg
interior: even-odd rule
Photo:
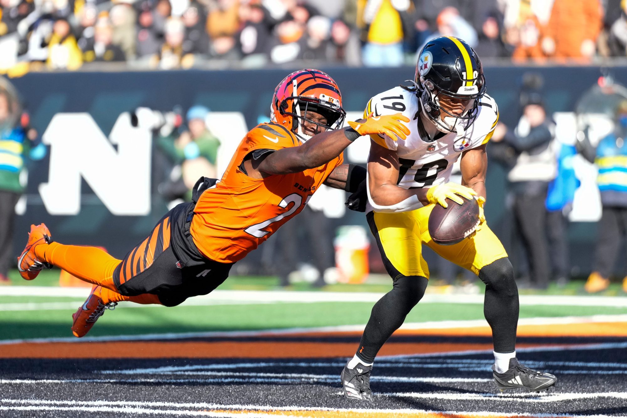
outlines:
[[[99,248],[51,242],[37,245],[34,252],[38,259],[56,265],[83,281],[117,291],[113,283],[113,271],[122,260]]]

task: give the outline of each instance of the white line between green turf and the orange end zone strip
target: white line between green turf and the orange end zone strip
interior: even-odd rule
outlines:
[[[552,325],[552,324],[594,324],[594,323],[623,323],[627,322],[627,314],[619,315],[592,315],[592,316],[562,316],[555,318],[521,318],[521,325]],[[87,338],[61,337],[61,338],[32,338],[28,340],[0,340],[0,345],[19,343],[83,343],[88,341],[146,341],[146,340],[182,340],[187,338],[219,338],[219,337],[246,337],[246,336],[271,336],[293,335],[303,333],[332,333],[332,332],[361,332],[365,324],[321,326],[316,328],[285,328],[274,330],[255,331],[208,331],[195,333],[165,333],[143,335],[117,335],[98,336]],[[443,330],[447,328],[474,328],[488,326],[485,319],[471,319],[468,321],[427,321],[416,323],[404,323],[399,330]]]

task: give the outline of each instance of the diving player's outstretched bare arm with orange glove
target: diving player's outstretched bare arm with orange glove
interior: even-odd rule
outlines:
[[[362,135],[384,134],[406,139],[409,129],[403,122],[409,122],[409,119],[402,114],[349,122],[353,127],[322,132],[300,146],[271,153],[259,164],[258,170],[267,174],[288,174],[320,167],[339,156],[352,141]]]

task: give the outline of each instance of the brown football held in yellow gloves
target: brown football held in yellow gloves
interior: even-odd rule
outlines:
[[[461,197],[461,196],[460,196]],[[429,215],[429,235],[440,245],[453,245],[461,242],[479,225],[479,204],[476,199],[464,201],[461,205],[446,199],[448,208],[435,205]]]

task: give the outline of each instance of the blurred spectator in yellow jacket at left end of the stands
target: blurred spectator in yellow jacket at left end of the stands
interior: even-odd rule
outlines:
[[[52,70],[78,70],[83,65],[83,53],[71,33],[66,19],[56,19],[52,35],[48,40],[48,68]]]

